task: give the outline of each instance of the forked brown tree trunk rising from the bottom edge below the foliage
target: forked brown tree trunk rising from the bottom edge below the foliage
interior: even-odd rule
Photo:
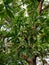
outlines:
[[[22,54],[21,57],[24,60],[26,60],[26,62],[28,63],[28,65],[36,65],[37,55],[34,55],[32,59],[30,58],[30,56],[26,57],[24,54]]]

